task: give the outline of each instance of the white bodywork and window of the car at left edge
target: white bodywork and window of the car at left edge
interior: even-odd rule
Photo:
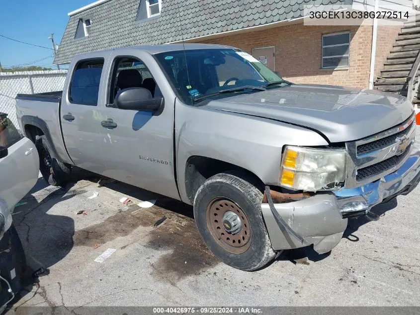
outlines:
[[[0,239],[11,225],[14,206],[38,180],[35,144],[0,112]]]

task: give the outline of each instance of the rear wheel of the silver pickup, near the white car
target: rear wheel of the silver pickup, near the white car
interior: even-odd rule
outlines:
[[[38,137],[35,146],[39,155],[39,170],[45,181],[51,186],[66,184],[70,180],[71,165],[58,159],[45,135]]]

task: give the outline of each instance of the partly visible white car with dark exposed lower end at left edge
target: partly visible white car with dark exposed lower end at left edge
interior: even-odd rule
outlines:
[[[12,213],[35,185],[38,174],[35,144],[16,129],[7,114],[0,112],[0,313],[21,290],[26,269],[22,244],[12,225]]]

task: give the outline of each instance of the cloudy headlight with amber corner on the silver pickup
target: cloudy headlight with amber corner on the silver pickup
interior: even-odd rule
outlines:
[[[286,146],[280,169],[280,185],[294,190],[332,190],[345,180],[347,152]]]

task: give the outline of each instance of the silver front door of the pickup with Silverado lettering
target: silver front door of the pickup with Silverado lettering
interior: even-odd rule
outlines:
[[[100,128],[106,163],[103,175],[179,199],[173,167],[174,97],[168,88],[160,88],[168,82],[153,57],[146,52],[136,53],[144,56],[114,53],[108,65],[108,96],[101,110],[104,120],[113,126]],[[153,97],[163,97],[164,109],[151,112],[116,108],[118,91],[130,88],[145,88]]]

